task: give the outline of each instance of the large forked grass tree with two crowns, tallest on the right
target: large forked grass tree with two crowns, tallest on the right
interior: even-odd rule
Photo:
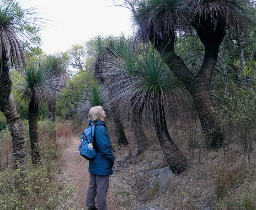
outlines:
[[[150,41],[155,49],[172,55],[166,61],[179,68],[173,73],[192,94],[208,148],[218,148],[223,134],[213,113],[209,94],[219,46],[227,30],[231,33],[245,27],[246,0],[138,0],[133,4],[134,22],[139,26],[137,37]],[[205,47],[203,64],[197,74],[187,68],[175,53],[178,32],[192,26]]]

